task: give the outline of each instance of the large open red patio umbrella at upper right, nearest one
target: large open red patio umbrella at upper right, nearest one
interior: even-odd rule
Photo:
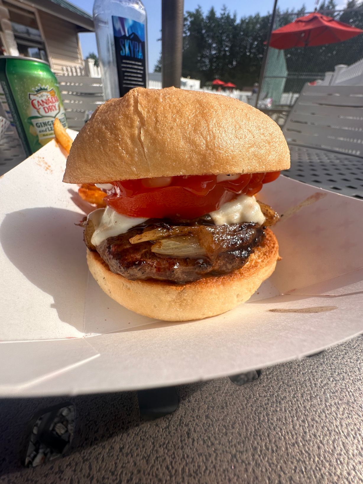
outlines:
[[[273,30],[270,47],[290,49],[314,45],[335,44],[351,39],[363,30],[338,22],[332,17],[314,12],[297,18],[280,29]]]

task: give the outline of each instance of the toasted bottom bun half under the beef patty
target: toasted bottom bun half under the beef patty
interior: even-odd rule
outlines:
[[[130,281],[111,272],[98,252],[87,249],[91,274],[108,296],[127,309],[164,321],[207,318],[247,301],[270,277],[278,257],[276,237],[266,229],[263,242],[241,269],[178,285],[166,281]]]

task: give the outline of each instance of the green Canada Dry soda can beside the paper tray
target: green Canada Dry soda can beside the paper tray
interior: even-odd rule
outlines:
[[[0,83],[28,156],[54,138],[56,118],[68,127],[59,84],[47,62],[2,56]]]

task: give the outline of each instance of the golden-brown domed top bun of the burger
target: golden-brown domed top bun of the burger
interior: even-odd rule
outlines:
[[[289,167],[281,129],[258,109],[220,94],[136,88],[96,109],[72,145],[63,181],[106,183]]]

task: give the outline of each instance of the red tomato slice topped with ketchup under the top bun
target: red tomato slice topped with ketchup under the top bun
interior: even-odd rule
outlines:
[[[218,210],[237,194],[254,195],[264,177],[255,173],[220,182],[216,175],[115,181],[115,192],[105,201],[129,217],[193,219]]]

